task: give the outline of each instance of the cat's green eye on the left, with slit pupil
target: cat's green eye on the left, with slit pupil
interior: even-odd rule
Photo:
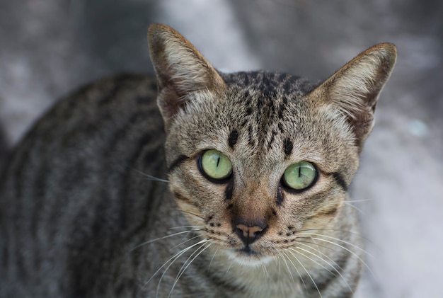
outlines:
[[[200,156],[200,169],[209,178],[224,180],[231,176],[232,164],[222,152],[208,150]]]

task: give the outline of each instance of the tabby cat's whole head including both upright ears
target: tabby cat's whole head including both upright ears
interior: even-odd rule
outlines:
[[[220,250],[273,256],[343,207],[396,47],[381,44],[318,86],[264,71],[220,74],[151,25],[171,192]]]

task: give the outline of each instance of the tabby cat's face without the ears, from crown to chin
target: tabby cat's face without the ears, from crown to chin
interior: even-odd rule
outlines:
[[[238,260],[274,256],[298,231],[323,229],[338,213],[358,166],[355,137],[290,76],[225,81],[223,93],[189,94],[170,127],[169,163],[186,156],[171,168],[171,190],[219,248]],[[285,84],[303,89],[287,92]]]

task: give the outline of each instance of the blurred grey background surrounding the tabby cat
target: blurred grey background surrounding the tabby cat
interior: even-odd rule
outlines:
[[[443,1],[0,0],[0,166],[57,98],[105,75],[152,73],[154,22],[222,71],[315,80],[395,43],[352,184],[372,270],[356,296],[443,297]]]

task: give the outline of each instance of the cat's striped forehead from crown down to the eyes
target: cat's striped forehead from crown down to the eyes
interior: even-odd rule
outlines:
[[[326,164],[331,152],[340,151],[340,130],[309,99],[315,86],[306,79],[265,71],[223,76],[224,93],[192,94],[167,148],[180,148],[185,156],[215,149],[233,161],[255,164],[257,172],[282,162]]]

